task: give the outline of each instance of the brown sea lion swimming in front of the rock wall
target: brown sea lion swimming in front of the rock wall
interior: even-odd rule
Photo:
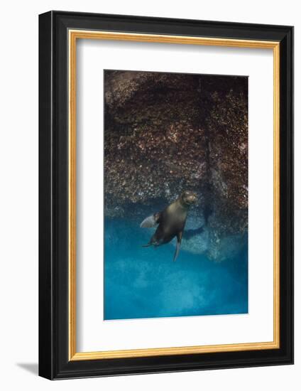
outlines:
[[[177,247],[173,260],[179,255],[183,230],[185,228],[187,213],[192,204],[197,200],[197,195],[192,191],[183,191],[177,200],[168,205],[162,212],[154,213],[141,223],[141,228],[155,227],[157,230],[151,237],[150,242],[143,247],[160,246],[170,242],[175,236],[177,237]]]

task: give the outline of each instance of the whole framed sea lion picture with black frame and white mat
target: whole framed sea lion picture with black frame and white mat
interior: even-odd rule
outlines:
[[[293,363],[293,28],[39,18],[39,373]]]

